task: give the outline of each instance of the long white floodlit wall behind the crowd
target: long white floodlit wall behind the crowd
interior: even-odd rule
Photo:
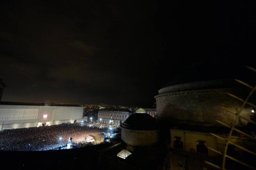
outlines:
[[[44,118],[47,115],[47,118]],[[83,121],[83,107],[0,105],[0,130]]]

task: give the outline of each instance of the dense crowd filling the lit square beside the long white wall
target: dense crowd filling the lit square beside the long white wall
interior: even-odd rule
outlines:
[[[22,128],[0,132],[0,150],[7,151],[43,151],[66,145],[68,138],[83,147],[86,136],[107,132],[107,128],[83,124],[61,124],[38,128]]]

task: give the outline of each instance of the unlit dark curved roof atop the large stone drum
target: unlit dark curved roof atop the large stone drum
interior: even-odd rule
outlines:
[[[209,81],[209,80],[227,80],[227,79],[240,79],[242,81],[250,81],[250,70],[245,66],[235,66],[235,65],[209,65],[209,64],[197,64],[195,66],[189,67],[187,70],[179,73],[176,77],[165,84],[162,88],[197,82],[197,81]],[[238,83],[232,82],[233,86]],[[253,84],[253,83],[252,83]]]

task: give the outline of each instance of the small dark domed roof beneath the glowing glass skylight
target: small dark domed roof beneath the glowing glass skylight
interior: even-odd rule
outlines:
[[[129,116],[121,127],[134,130],[156,130],[156,119],[147,113],[134,113]]]

